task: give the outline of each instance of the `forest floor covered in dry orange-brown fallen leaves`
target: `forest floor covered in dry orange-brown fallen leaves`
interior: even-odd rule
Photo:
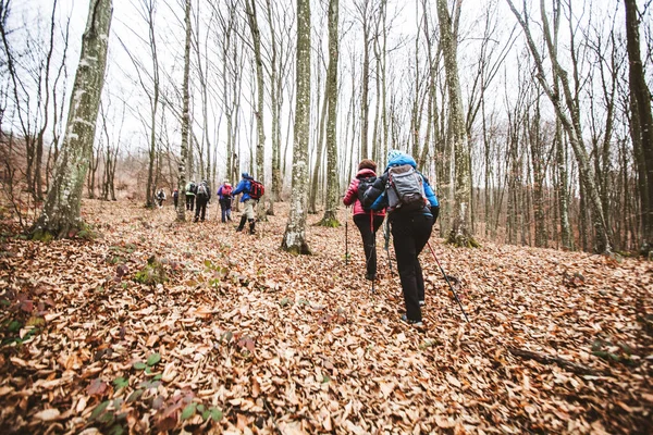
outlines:
[[[293,257],[275,208],[254,236],[217,222],[215,204],[177,224],[172,207],[126,201],[84,202],[95,240],[5,234],[2,431],[653,432],[652,262],[455,249],[435,233],[471,322],[427,248],[420,331],[399,322],[381,236],[372,294],[350,221],[347,265],[345,226],[312,226],[319,215],[313,254]]]

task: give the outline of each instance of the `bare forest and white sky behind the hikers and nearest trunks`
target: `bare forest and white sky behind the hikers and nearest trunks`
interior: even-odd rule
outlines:
[[[515,10],[526,17],[537,59],[508,2],[449,2],[455,36],[449,48],[457,53],[463,102],[461,113],[453,113],[436,2],[342,2],[337,149],[330,163],[328,3],[315,2],[309,211],[330,208],[331,167],[342,195],[361,158],[383,167],[387,149],[398,148],[416,157],[435,186],[442,234],[454,226],[456,188],[463,184],[457,170],[465,170],[468,220],[478,237],[602,251],[601,223],[611,249],[648,251],[651,164],[646,141],[632,140],[639,133],[631,115],[624,3],[539,3]],[[273,213],[274,202],[291,194],[296,5],[233,0],[190,7],[187,179],[206,178],[217,187],[249,172],[269,186],[266,208]],[[177,186],[184,8],[161,0],[114,4],[86,183],[90,198],[127,197],[151,206],[158,186],[169,192]],[[86,12],[81,1],[2,2],[3,186],[21,202],[16,210],[25,226],[38,213],[61,146]],[[639,4],[636,16],[650,85],[650,1]],[[464,124],[463,138],[454,117]],[[467,169],[457,163],[459,148]]]

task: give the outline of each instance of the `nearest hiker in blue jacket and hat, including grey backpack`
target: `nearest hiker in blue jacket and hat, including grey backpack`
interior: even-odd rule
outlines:
[[[440,204],[429,181],[417,172],[415,159],[390,150],[387,167],[364,197],[372,202],[372,210],[387,207],[387,220],[397,257],[397,269],[404,293],[405,323],[423,326],[421,307],[424,306],[424,278],[419,253],[429,241]]]

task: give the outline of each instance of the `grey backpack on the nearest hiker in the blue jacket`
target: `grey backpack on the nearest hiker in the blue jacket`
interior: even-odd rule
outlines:
[[[423,177],[409,164],[390,167],[385,191],[390,210],[415,211],[427,204]]]

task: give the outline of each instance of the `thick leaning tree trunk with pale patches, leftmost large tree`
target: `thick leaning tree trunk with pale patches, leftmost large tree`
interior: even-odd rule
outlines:
[[[89,3],[65,136],[46,203],[32,229],[35,239],[72,237],[85,229],[79,207],[95,140],[113,13],[112,0]]]

